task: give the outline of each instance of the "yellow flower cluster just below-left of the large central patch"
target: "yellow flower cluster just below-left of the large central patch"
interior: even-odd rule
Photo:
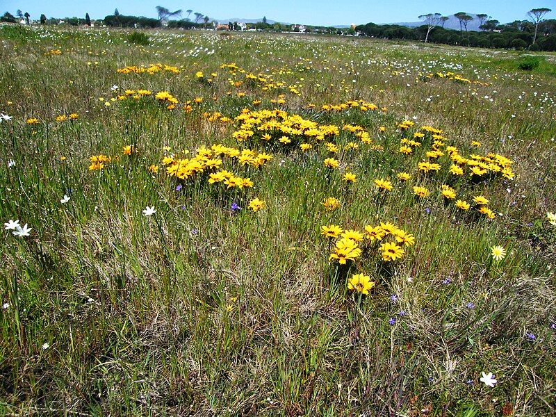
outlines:
[[[252,188],[254,183],[250,178],[238,177],[232,172],[223,170],[224,157],[229,158],[234,165],[261,167],[272,159],[272,155],[259,153],[252,149],[239,150],[225,147],[221,144],[212,145],[210,149],[200,147],[193,158],[173,158],[165,156],[163,165],[167,165],[166,172],[171,177],[186,180],[196,174],[208,173],[208,183],[223,183],[227,188]]]

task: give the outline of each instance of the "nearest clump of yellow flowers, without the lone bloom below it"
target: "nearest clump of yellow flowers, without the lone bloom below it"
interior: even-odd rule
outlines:
[[[377,249],[381,253],[383,261],[390,262],[401,259],[404,256],[405,251],[400,245],[412,246],[415,244],[413,235],[391,222],[381,222],[378,226],[367,225],[364,230],[364,233],[354,229],[344,230],[337,224],[328,224],[320,227],[320,234],[322,236],[339,238],[334,245],[334,250],[332,250],[329,260],[335,259],[341,265],[345,265],[347,261],[355,261],[355,259],[361,256],[363,251],[360,245],[367,244],[370,248],[377,243],[381,243]],[[393,242],[385,242],[384,240],[388,237],[393,238]]]

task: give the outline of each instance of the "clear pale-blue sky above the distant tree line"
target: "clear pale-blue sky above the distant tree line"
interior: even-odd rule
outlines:
[[[47,17],[84,17],[89,13],[91,19],[111,15],[117,8],[122,15],[142,15],[156,17],[156,6],[170,10],[188,10],[208,15],[211,19],[240,17],[268,19],[288,23],[316,25],[364,24],[368,22],[416,22],[418,15],[441,13],[451,15],[457,12],[486,13],[502,23],[523,20],[532,8],[547,7],[555,11],[546,18],[556,18],[556,0],[431,0],[431,1],[372,1],[372,0],[218,0],[218,1],[179,1],[179,0],[0,0],[0,13],[9,11],[13,15],[17,9],[38,19],[41,13]]]

